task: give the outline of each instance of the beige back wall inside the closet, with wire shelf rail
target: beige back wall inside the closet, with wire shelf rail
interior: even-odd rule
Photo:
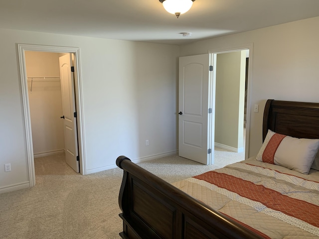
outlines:
[[[27,77],[44,77],[28,80],[33,153],[64,150],[59,53],[26,51],[25,64]]]

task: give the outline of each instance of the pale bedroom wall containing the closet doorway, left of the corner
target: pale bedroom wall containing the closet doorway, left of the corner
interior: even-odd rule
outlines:
[[[28,182],[17,43],[80,48],[87,173],[115,167],[119,155],[177,149],[178,46],[8,29],[0,37],[0,190]]]

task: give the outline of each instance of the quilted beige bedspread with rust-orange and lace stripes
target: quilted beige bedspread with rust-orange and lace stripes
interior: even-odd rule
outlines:
[[[245,160],[174,186],[264,238],[319,238],[319,172]]]

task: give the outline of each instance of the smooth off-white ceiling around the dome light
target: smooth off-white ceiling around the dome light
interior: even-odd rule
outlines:
[[[176,45],[315,16],[319,0],[195,0],[179,18],[159,0],[0,0],[0,28]]]

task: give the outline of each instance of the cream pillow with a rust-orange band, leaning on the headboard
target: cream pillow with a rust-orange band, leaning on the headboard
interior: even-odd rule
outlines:
[[[308,174],[319,149],[319,139],[294,138],[268,130],[256,160]]]

